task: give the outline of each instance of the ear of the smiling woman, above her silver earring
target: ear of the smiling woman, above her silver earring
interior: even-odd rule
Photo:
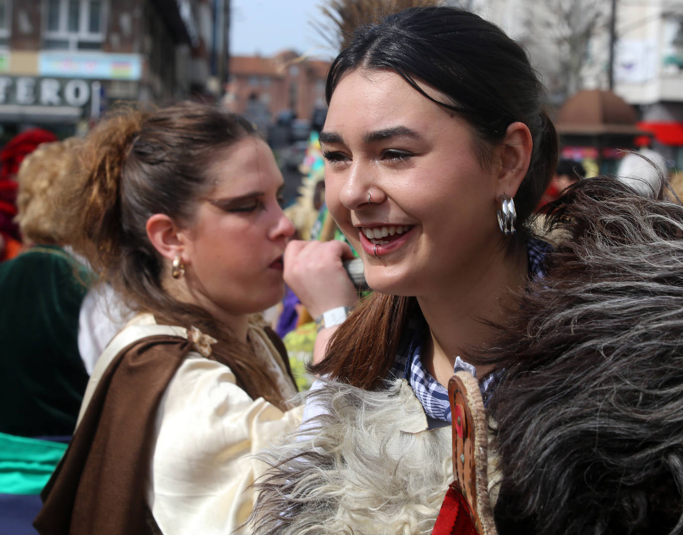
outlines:
[[[503,194],[514,197],[527,175],[531,161],[533,140],[529,127],[520,121],[510,124],[499,146],[501,170],[498,175],[497,197]]]

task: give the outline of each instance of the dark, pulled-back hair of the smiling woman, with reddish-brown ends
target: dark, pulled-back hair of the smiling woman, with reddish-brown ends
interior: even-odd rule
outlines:
[[[339,81],[359,69],[391,70],[424,98],[462,117],[475,134],[473,150],[484,169],[507,126],[515,121],[527,125],[533,152],[514,197],[521,228],[509,244],[524,242],[529,235],[525,222],[553,177],[558,151],[555,127],[544,111],[546,93],[525,50],[471,12],[445,6],[408,8],[355,31],[331,65],[328,103]],[[437,89],[444,100],[428,95],[418,81]],[[374,293],[337,330],[328,355],[311,371],[363,388],[380,386],[408,316],[418,311],[415,298]]]

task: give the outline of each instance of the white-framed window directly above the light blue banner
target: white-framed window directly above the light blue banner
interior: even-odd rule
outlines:
[[[102,48],[104,40],[102,30],[106,11],[103,0],[44,1],[46,3],[44,48],[51,50],[98,50]]]

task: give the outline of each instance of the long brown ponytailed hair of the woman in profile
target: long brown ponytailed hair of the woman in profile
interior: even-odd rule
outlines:
[[[166,214],[178,224],[191,222],[197,199],[212,188],[206,169],[214,155],[253,135],[247,120],[214,106],[122,107],[85,139],[83,179],[63,204],[80,222],[74,249],[130,308],[217,338],[213,354],[230,366],[240,386],[252,398],[279,404],[283,399],[275,379],[253,366],[246,343],[203,308],[165,291],[164,259],[145,229],[153,214]]]

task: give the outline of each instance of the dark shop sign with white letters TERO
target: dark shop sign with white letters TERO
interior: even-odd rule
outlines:
[[[57,78],[31,78],[30,76],[0,76],[0,104],[22,106],[85,106],[93,88],[99,91],[99,82],[64,80]]]

